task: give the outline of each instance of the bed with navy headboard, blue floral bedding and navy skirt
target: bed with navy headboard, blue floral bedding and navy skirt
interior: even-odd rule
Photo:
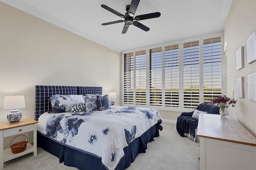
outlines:
[[[96,110],[90,104],[95,96]],[[155,109],[110,106],[105,99],[102,87],[36,85],[38,147],[78,169],[129,167],[139,153],[146,152],[147,143],[159,136],[161,116]],[[67,101],[73,102],[71,107]]]

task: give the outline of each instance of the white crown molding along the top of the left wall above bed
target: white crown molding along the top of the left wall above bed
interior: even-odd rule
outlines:
[[[66,22],[63,22],[62,20],[59,20],[58,18],[55,18],[54,16],[51,16],[49,14],[46,14],[45,12],[42,12],[38,10],[37,8],[34,8],[33,6],[30,6],[26,4],[25,2],[22,2],[21,0],[0,0],[1,2],[4,2],[5,4],[8,4],[14,8],[17,8],[19,10],[22,10],[28,14],[31,14],[33,16],[36,16],[37,18],[40,18],[44,21],[50,22],[51,24],[54,24],[56,26],[59,26],[60,28],[63,28],[65,30],[68,30],[74,34],[77,34],[81,37],[84,37],[88,40],[91,40],[92,42],[98,43],[100,45],[103,45],[104,47],[107,47],[109,49],[112,49],[118,53],[122,52],[122,49],[119,49],[107,42],[104,42],[70,24],[67,24]]]

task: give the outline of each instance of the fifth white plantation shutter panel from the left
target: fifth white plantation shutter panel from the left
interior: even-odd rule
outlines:
[[[196,108],[199,101],[199,41],[183,44],[183,107]]]

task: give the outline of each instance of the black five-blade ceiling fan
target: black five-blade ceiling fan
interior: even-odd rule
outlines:
[[[124,20],[118,20],[118,21],[112,21],[112,22],[106,22],[101,24],[102,26],[110,25],[110,24],[116,24],[116,23],[121,23],[124,22],[124,28],[122,30],[122,34],[125,34],[129,28],[130,25],[134,25],[144,31],[149,31],[149,28],[141,24],[140,20],[146,20],[150,18],[158,18],[160,17],[160,12],[154,12],[150,14],[144,14],[144,15],[138,15],[134,17],[134,14],[136,12],[136,9],[139,5],[140,0],[132,0],[130,5],[126,6],[126,13],[125,15],[113,10],[112,8],[106,6],[106,5],[101,5],[102,8],[108,10],[109,12],[112,12],[113,14],[116,14],[117,16],[120,16],[121,18],[124,18]],[[134,21],[136,20],[136,21]]]

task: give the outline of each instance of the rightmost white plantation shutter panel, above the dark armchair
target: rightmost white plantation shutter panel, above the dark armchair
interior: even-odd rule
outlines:
[[[221,38],[204,40],[204,102],[221,95]]]

